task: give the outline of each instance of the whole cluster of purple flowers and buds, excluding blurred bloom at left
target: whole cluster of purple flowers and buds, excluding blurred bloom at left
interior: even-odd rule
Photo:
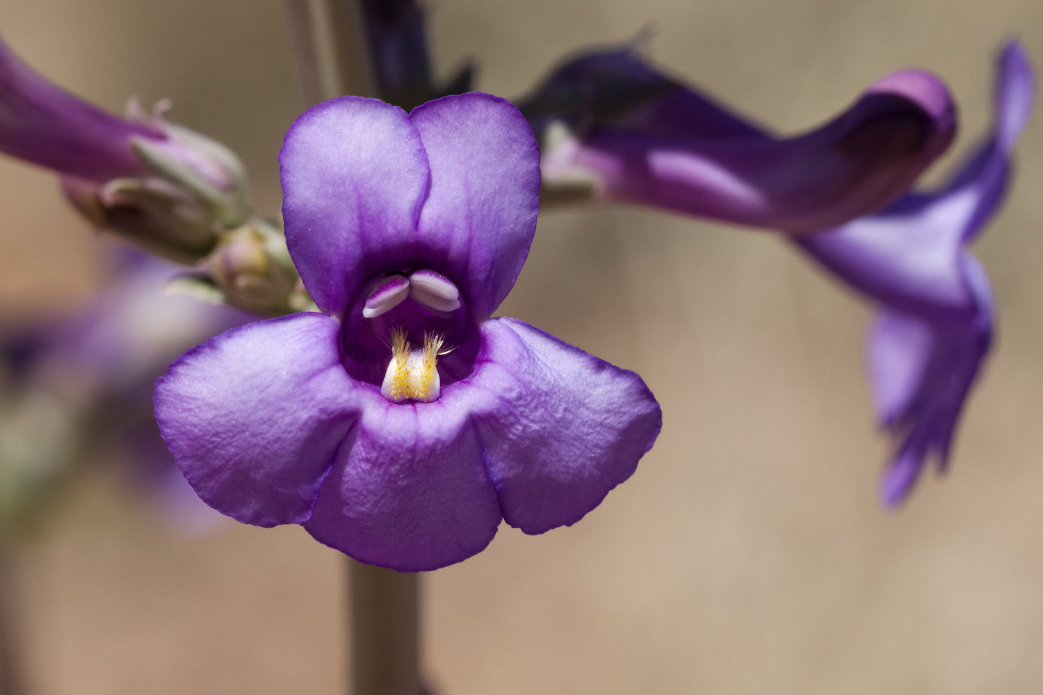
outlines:
[[[415,3],[362,7],[389,100],[468,83],[468,69],[433,83]],[[313,107],[280,153],[285,237],[250,209],[238,158],[165,105],[105,114],[2,42],[0,151],[58,172],[99,225],[197,264],[183,289],[278,317],[207,341],[156,383],[156,419],[196,493],[242,522],[302,524],[362,562],[418,571],[480,551],[503,520],[529,533],[575,523],[659,431],[636,374],[492,318],[541,190],[786,232],[881,305],[871,386],[900,440],[884,502],[931,456],[944,469],[993,331],[967,245],[1002,201],[1033,102],[1018,44],[998,73],[992,133],[930,193],[907,190],[956,120],[929,73],[889,75],[780,138],[632,48],[566,61],[520,110],[479,93],[409,114],[359,97]]]

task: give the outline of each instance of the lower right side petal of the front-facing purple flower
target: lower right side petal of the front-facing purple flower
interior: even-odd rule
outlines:
[[[474,418],[504,519],[527,533],[569,525],[652,448],[659,404],[630,371],[515,319],[482,324]]]

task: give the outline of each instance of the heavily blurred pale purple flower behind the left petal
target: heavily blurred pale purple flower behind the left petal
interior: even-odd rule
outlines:
[[[247,316],[165,296],[176,272],[124,252],[86,308],[0,329],[0,517],[32,512],[86,442],[103,447],[99,458],[129,464],[128,476],[178,530],[217,517],[173,465],[152,417],[151,391],[177,354]]]

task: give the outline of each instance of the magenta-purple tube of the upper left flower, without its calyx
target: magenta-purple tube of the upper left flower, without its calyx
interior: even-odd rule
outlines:
[[[144,173],[132,138],[162,140],[44,79],[0,40],[0,151],[93,181]]]

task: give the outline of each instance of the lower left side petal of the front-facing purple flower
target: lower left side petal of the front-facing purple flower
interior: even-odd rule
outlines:
[[[155,386],[155,419],[204,502],[258,526],[300,523],[356,418],[340,322],[294,314],[190,350]]]

